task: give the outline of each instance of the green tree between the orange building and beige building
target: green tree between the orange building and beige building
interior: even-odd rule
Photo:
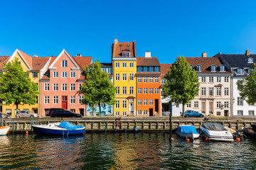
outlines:
[[[178,57],[173,67],[164,76],[164,98],[170,98],[170,103],[183,105],[183,117],[185,105],[198,94],[198,78],[196,71],[191,69],[186,58]]]

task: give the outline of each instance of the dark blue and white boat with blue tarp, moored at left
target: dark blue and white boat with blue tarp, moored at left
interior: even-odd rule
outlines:
[[[48,125],[32,125],[33,131],[37,135],[83,135],[85,127],[72,125],[69,122],[48,123]]]

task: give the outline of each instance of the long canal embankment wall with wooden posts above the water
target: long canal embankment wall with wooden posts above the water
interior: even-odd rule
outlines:
[[[230,118],[181,118],[172,117],[172,130],[175,130],[178,125],[193,125],[196,128],[206,119],[214,123],[221,123],[228,128],[241,130],[243,126],[256,123],[255,117],[230,117]],[[47,125],[48,123],[57,123],[69,121],[73,125],[85,126],[86,131],[122,131],[134,130],[138,131],[168,131],[170,129],[169,117],[123,117],[117,119],[115,117],[86,117],[86,118],[11,118],[1,119],[1,125],[11,125],[11,133],[33,132],[32,125]]]

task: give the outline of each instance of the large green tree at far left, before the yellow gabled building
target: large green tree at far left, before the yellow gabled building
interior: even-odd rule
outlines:
[[[38,85],[31,81],[28,72],[23,72],[18,60],[4,63],[0,74],[0,101],[1,106],[14,103],[18,110],[18,105],[36,104],[39,94]]]

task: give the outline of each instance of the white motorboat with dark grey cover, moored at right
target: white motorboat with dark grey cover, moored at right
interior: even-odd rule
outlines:
[[[220,123],[203,123],[200,126],[201,135],[209,140],[233,141],[233,135]]]

